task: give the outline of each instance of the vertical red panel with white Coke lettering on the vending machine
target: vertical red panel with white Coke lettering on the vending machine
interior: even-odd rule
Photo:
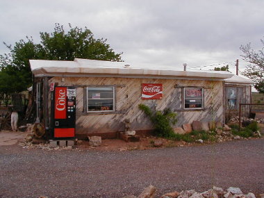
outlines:
[[[55,119],[66,119],[67,88],[55,88]]]

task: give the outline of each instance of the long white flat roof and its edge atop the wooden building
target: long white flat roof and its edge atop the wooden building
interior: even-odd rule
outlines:
[[[154,68],[134,67],[125,68],[124,62],[111,62],[104,60],[88,60],[75,58],[67,60],[29,60],[31,71],[35,76],[42,74],[112,74],[127,76],[181,76],[197,79],[229,79],[233,74],[215,71],[179,71],[171,67]]]

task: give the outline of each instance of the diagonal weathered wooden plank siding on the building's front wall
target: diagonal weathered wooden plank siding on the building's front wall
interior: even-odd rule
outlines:
[[[224,122],[222,81],[72,77],[65,78],[65,81],[61,82],[60,77],[53,77],[49,79],[49,83],[76,86],[76,134],[124,131],[123,120],[125,118],[130,119],[132,130],[153,129],[149,117],[138,108],[139,104],[146,104],[152,109],[156,106],[156,110],[170,108],[175,111],[178,118],[175,126],[192,123],[194,120]],[[162,83],[163,99],[142,100],[141,83]],[[117,85],[115,87],[115,110],[117,113],[103,115],[85,113],[83,108],[85,85]],[[204,109],[184,110],[180,86],[205,88]]]

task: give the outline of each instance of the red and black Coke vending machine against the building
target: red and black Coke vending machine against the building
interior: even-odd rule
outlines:
[[[52,139],[74,139],[76,88],[55,86],[51,93]]]

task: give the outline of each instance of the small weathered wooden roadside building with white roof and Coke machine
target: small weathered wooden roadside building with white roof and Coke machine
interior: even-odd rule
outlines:
[[[37,119],[48,138],[73,134],[80,139],[115,138],[124,131],[124,119],[129,119],[131,130],[146,133],[153,125],[139,104],[170,108],[177,113],[176,126],[195,120],[224,123],[228,104],[237,107],[239,101],[250,99],[249,82],[232,80],[229,72],[177,71],[79,58],[30,60],[30,64]],[[238,96],[234,101],[226,94],[231,88]]]

